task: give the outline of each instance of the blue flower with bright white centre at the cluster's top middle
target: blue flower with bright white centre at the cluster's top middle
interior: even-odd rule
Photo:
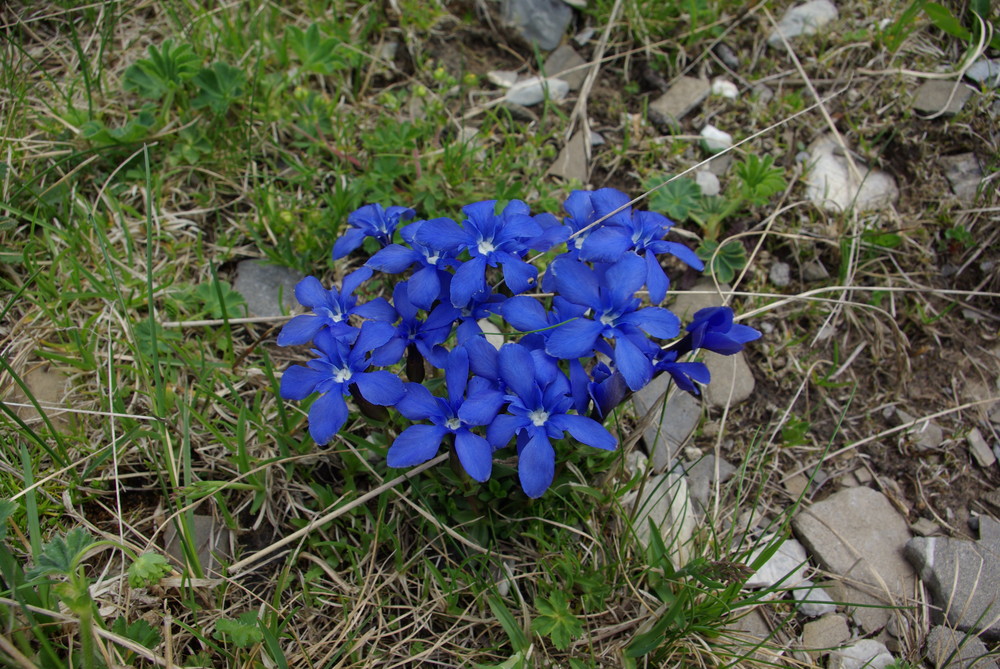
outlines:
[[[434,249],[458,254],[463,249],[472,256],[455,271],[451,280],[451,303],[459,309],[477,295],[488,293],[486,268],[500,265],[504,283],[515,295],[531,287],[538,270],[524,260],[527,242],[540,237],[542,227],[528,215],[528,207],[512,200],[499,216],[496,200],[477,202],[462,208],[466,215],[460,226],[446,218],[424,221],[416,240]]]

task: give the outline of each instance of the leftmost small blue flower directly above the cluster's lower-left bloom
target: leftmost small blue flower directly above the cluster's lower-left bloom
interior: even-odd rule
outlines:
[[[295,299],[302,306],[310,307],[313,313],[300,314],[288,321],[278,333],[278,346],[307,344],[324,328],[329,328],[335,338],[350,343],[358,336],[357,328],[348,321],[350,316],[377,321],[396,320],[396,311],[384,298],[377,297],[358,304],[354,291],[371,275],[372,271],[367,267],[355,270],[344,277],[340,290],[326,290],[314,276],[299,281],[295,286]]]

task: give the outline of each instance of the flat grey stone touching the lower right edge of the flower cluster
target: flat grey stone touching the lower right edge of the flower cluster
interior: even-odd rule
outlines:
[[[660,374],[632,395],[632,406],[639,420],[652,414],[642,435],[653,471],[657,473],[673,464],[677,450],[687,442],[701,419],[701,403],[683,391],[672,392],[664,405],[663,393],[669,385],[670,375]]]

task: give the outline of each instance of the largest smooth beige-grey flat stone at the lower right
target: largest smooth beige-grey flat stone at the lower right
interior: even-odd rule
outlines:
[[[866,632],[886,625],[886,606],[909,603],[916,575],[903,557],[910,530],[889,499],[871,488],[845,488],[801,509],[796,536],[828,572],[842,579],[836,601],[858,604]],[[868,606],[871,605],[871,606]]]

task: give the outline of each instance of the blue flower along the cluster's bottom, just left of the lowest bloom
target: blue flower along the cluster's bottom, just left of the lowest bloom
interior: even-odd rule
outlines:
[[[490,424],[503,406],[503,394],[480,377],[469,380],[469,354],[464,347],[454,349],[445,363],[448,398],[434,397],[418,383],[406,384],[406,397],[396,409],[410,420],[430,421],[411,425],[389,447],[390,467],[412,467],[437,454],[444,438],[453,434],[455,452],[462,467],[477,481],[490,478],[493,449],[469,428]]]

